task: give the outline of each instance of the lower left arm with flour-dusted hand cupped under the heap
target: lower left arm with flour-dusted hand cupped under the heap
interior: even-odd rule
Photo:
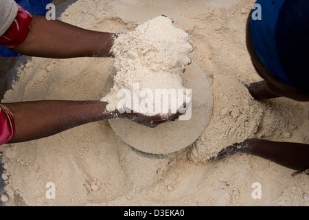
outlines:
[[[148,117],[138,113],[106,111],[107,102],[43,100],[3,103],[14,115],[15,135],[10,141],[25,142],[60,133],[75,126],[111,118],[128,118],[146,126],[174,119],[168,115]],[[155,122],[155,124],[154,124]]]

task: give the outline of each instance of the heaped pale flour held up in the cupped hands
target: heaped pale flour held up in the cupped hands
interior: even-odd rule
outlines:
[[[108,102],[106,110],[130,109],[146,115],[175,113],[183,102],[190,101],[181,75],[191,62],[192,50],[189,34],[174,27],[168,17],[155,17],[132,32],[120,34],[111,48],[115,56],[114,85],[101,100]],[[168,109],[156,103],[164,101],[162,94],[166,91],[170,92]],[[172,94],[176,94],[177,102],[172,102]],[[156,98],[159,96],[161,99]]]

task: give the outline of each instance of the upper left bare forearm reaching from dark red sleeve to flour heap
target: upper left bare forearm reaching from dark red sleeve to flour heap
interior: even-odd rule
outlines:
[[[12,49],[14,52],[47,58],[111,56],[109,51],[117,34],[85,30],[62,21],[32,16],[27,39]]]

